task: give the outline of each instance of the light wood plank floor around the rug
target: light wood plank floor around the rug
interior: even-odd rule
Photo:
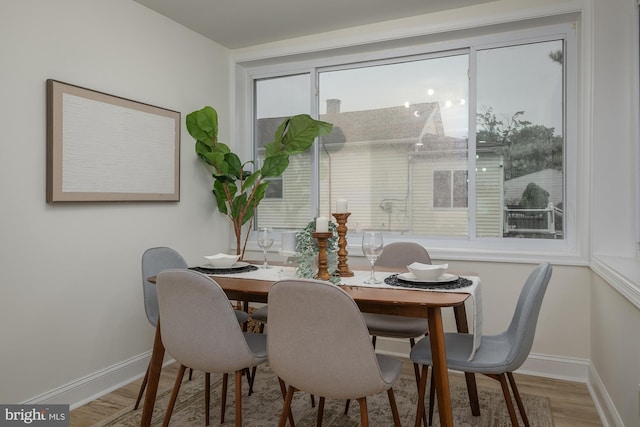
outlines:
[[[173,387],[177,368],[173,364],[162,370],[160,390]],[[412,372],[412,369],[407,367],[407,372]],[[521,393],[549,397],[555,427],[602,426],[585,384],[530,375],[515,374],[514,376]],[[497,381],[482,375],[476,377],[478,386],[500,388]],[[451,382],[464,382],[464,377],[459,374],[451,373],[449,378]],[[91,426],[125,407],[133,405],[141,382],[141,379],[134,381],[71,411],[71,427]]]

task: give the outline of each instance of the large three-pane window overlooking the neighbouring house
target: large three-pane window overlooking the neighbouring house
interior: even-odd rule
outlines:
[[[575,47],[557,28],[533,33],[256,74],[258,158],[287,115],[317,112],[334,125],[292,160],[258,224],[300,228],[347,199],[352,229],[565,239],[566,108],[575,108],[565,58]]]

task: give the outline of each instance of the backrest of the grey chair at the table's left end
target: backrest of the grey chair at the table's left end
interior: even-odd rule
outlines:
[[[156,285],[147,279],[157,276],[162,270],[188,268],[187,262],[174,249],[159,246],[149,248],[142,254],[142,294],[144,311],[153,327],[158,324],[158,294]]]

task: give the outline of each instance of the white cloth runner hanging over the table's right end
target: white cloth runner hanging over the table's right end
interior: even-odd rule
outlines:
[[[257,266],[260,267],[260,266]],[[346,286],[362,286],[362,287],[377,287],[387,289],[398,289],[398,286],[391,286],[384,283],[384,279],[395,273],[388,272],[376,272],[376,278],[382,283],[379,284],[367,284],[364,283],[371,276],[370,271],[356,270],[353,272],[353,277],[341,277],[340,284]],[[247,271],[244,273],[235,273],[234,277],[256,280],[268,280],[277,281],[284,279],[297,279],[295,267],[280,267],[271,266],[271,268],[264,269],[258,268],[254,271]],[[469,360],[473,359],[476,351],[480,347],[480,341],[482,336],[482,292],[480,291],[480,278],[477,276],[462,276],[471,280],[472,285],[466,288],[457,289],[418,289],[418,288],[402,288],[417,292],[456,292],[456,293],[468,293],[471,297],[471,306],[473,309],[473,350],[469,356]]]

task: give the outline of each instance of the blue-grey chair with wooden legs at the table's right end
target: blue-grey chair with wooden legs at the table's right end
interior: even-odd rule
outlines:
[[[513,395],[516,399],[516,404],[518,405],[518,410],[520,411],[524,425],[528,426],[529,420],[527,419],[518,387],[513,378],[513,371],[522,366],[531,351],[540,307],[542,306],[547,285],[551,279],[551,272],[551,265],[549,263],[543,263],[529,274],[518,297],[518,302],[509,327],[498,335],[482,335],[480,347],[472,360],[468,359],[473,348],[473,334],[445,334],[448,368],[454,371],[485,374],[499,381],[509,411],[509,417],[514,426],[518,425],[518,418],[513,407],[513,402],[511,401],[509,385],[513,390]],[[416,413],[416,426],[418,426],[419,420],[422,418],[422,413],[424,412],[427,369],[428,366],[433,364],[431,346],[428,339],[420,340],[413,347],[411,350],[411,360],[414,363],[423,365]],[[430,394],[433,396],[433,381]],[[430,397],[429,425],[431,425],[432,419],[433,399]]]

